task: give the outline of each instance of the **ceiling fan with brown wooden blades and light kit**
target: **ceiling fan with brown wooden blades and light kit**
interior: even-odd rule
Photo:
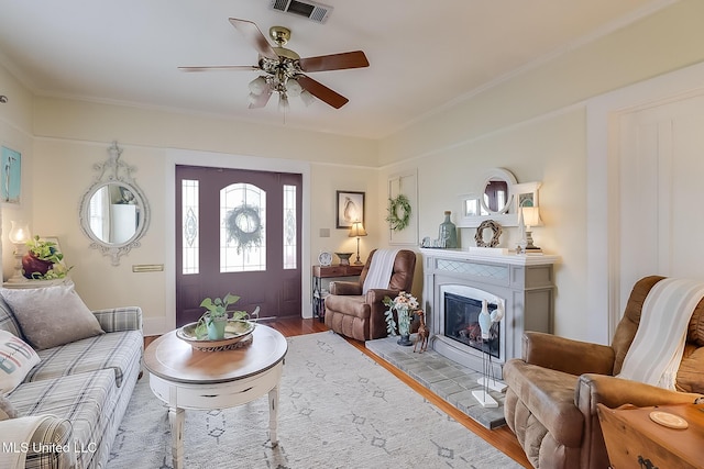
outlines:
[[[299,96],[306,104],[318,98],[336,109],[342,108],[349,99],[331,90],[306,74],[311,71],[342,70],[345,68],[369,67],[370,63],[362,51],[300,58],[294,51],[284,46],[290,38],[290,30],[272,26],[270,36],[276,43],[272,46],[266,36],[251,21],[230,18],[230,23],[258,53],[257,65],[220,65],[207,67],[178,67],[184,71],[207,70],[260,70],[264,75],[250,82],[250,109],[263,108],[272,93],[278,93],[278,104],[288,109],[288,98]]]

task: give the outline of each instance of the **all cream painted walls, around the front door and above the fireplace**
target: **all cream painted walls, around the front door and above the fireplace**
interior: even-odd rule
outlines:
[[[544,226],[536,243],[562,258],[557,269],[556,333],[586,338],[586,119],[591,97],[666,74],[704,59],[704,2],[675,2],[660,12],[521,74],[506,77],[481,93],[447,107],[382,141],[367,141],[295,129],[267,127],[209,116],[169,113],[111,104],[32,97],[7,71],[20,98],[0,107],[0,139],[23,147],[31,168],[31,188],[22,210],[33,230],[59,236],[74,264],[74,278],[92,308],[140,304],[154,319],[169,304],[164,273],[132,273],[133,264],[168,264],[164,238],[173,236],[160,221],[169,210],[165,164],[169,148],[217,152],[258,158],[292,158],[310,167],[309,263],[323,249],[355,249],[354,239],[334,228],[334,191],[366,192],[363,256],[387,241],[386,179],[398,170],[418,169],[419,236],[437,236],[444,210],[459,209],[458,194],[481,183],[492,167],[512,170],[519,182],[542,181]],[[4,91],[3,91],[4,92]],[[276,138],[272,138],[275,135]],[[90,183],[92,164],[106,157],[109,143],[123,146],[135,166],[138,182],[150,200],[154,221],[143,246],[111,267],[87,249],[78,227],[78,201]],[[352,163],[353,161],[353,163]],[[33,212],[33,213],[32,213]],[[3,270],[8,257],[8,220],[22,215],[3,208]],[[330,228],[330,237],[320,237]],[[505,245],[516,239],[507,230]],[[461,243],[471,245],[473,230]],[[418,282],[417,282],[418,283]],[[418,287],[415,287],[418,290]]]

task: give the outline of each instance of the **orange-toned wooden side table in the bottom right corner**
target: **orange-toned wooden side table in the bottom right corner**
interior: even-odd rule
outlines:
[[[704,404],[623,405],[597,404],[598,420],[613,469],[694,469],[704,467]],[[684,418],[686,428],[653,422],[651,412]]]

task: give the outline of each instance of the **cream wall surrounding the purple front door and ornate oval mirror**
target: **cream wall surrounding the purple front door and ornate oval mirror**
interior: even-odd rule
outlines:
[[[190,160],[179,160],[188,164],[204,164],[204,155],[216,166],[238,166],[241,160],[268,169],[282,160],[309,164],[310,237],[304,250],[308,255],[304,292],[310,291],[308,272],[320,250],[356,248],[346,231],[334,227],[336,190],[366,192],[367,210],[371,220],[375,219],[377,169],[370,161],[375,161],[377,154],[373,141],[53,98],[36,98],[34,112],[36,158],[32,178],[37,202],[32,230],[59,237],[68,264],[74,266],[76,288],[90,308],[139,304],[144,310],[147,333],[166,331],[173,314],[174,231],[169,228],[173,217],[168,217],[173,215],[168,168],[170,164],[173,169],[172,149],[193,154]],[[118,267],[88,248],[78,219],[79,201],[95,177],[92,165],[105,160],[112,139],[123,148],[122,160],[138,168],[134,178],[152,211],[142,245],[123,257]],[[320,237],[320,228],[329,228],[330,237]],[[370,226],[370,233],[378,231]],[[374,236],[369,239],[374,242]],[[371,244],[365,239],[363,256],[367,246]],[[138,264],[162,264],[165,270],[134,273],[132,266]],[[307,304],[304,309],[310,311]]]

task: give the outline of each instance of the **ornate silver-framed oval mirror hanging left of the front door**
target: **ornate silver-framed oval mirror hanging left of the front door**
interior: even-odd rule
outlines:
[[[80,201],[79,217],[80,227],[92,242],[90,247],[112,257],[117,266],[120,256],[140,246],[150,210],[131,177],[134,168],[120,161],[122,149],[113,143],[108,153],[108,160],[95,166],[99,175]]]

